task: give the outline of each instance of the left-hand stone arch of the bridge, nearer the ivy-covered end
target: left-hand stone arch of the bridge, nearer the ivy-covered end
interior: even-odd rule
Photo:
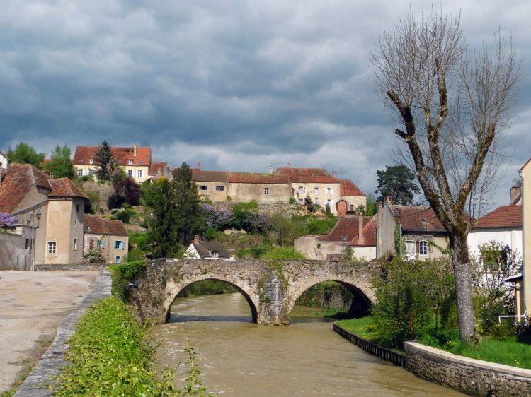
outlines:
[[[233,277],[224,277],[219,274],[212,275],[212,274],[201,274],[201,275],[195,275],[194,277],[190,278],[184,278],[183,280],[180,280],[178,283],[168,283],[166,285],[166,300],[164,301],[164,310],[166,312],[166,320],[165,322],[168,322],[171,312],[171,304],[173,304],[173,301],[176,299],[177,295],[188,285],[191,285],[193,283],[198,283],[200,281],[205,280],[216,280],[216,281],[222,281],[224,283],[232,285],[238,292],[241,293],[241,295],[244,296],[245,300],[249,304],[249,308],[251,309],[251,316],[253,319],[253,323],[258,322],[258,302],[259,297],[256,295],[256,292],[246,283],[242,282],[239,278],[233,278]]]

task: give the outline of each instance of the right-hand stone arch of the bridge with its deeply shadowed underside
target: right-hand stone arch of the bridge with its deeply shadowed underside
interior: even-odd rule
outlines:
[[[365,316],[369,313],[369,309],[372,305],[372,302],[375,300],[373,290],[368,287],[365,280],[357,280],[350,278],[343,278],[338,275],[320,275],[314,276],[312,278],[307,278],[304,280],[304,283],[301,283],[297,286],[293,285],[290,288],[287,302],[287,314],[290,315],[293,308],[295,307],[295,302],[301,297],[304,291],[309,290],[314,285],[319,283],[324,283],[325,281],[335,281],[336,283],[343,285],[348,292],[350,292],[354,299],[350,307],[349,312],[355,316]]]

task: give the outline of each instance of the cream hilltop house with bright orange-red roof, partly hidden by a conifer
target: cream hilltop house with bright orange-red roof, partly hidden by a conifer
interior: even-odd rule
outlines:
[[[78,146],[74,154],[74,169],[80,177],[93,175],[96,168],[96,153],[99,146]],[[159,174],[169,174],[166,162],[152,162],[152,149],[136,143],[130,148],[111,147],[113,159],[122,167],[127,177],[142,183]]]

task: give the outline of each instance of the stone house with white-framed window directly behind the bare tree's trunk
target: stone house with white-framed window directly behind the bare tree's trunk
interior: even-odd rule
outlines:
[[[390,253],[406,259],[437,259],[448,246],[447,232],[428,206],[398,206],[378,203],[377,247],[380,258]],[[395,247],[395,232],[400,233]]]

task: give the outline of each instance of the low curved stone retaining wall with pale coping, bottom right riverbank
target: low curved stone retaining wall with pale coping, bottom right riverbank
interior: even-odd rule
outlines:
[[[415,342],[404,346],[406,368],[417,377],[474,396],[531,396],[531,370],[452,355]]]

